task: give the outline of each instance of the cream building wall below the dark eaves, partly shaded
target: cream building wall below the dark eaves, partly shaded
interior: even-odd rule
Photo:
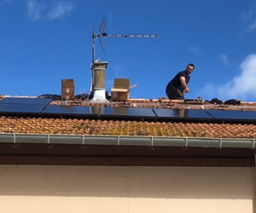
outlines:
[[[253,212],[254,168],[0,165],[1,212]]]

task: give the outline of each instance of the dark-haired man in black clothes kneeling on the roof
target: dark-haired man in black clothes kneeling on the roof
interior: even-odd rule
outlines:
[[[188,93],[189,74],[195,69],[194,64],[189,64],[184,71],[177,72],[177,75],[166,86],[166,95],[169,99],[184,100],[184,95]]]

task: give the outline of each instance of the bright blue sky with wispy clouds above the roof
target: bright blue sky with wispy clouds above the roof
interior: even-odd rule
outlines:
[[[256,0],[0,0],[0,94],[90,92],[92,32],[158,37],[96,39],[113,78],[130,78],[131,98],[166,97],[166,84],[195,64],[185,97],[256,101]]]

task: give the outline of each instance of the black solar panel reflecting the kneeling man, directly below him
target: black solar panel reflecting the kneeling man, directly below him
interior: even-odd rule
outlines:
[[[158,118],[211,119],[204,110],[195,109],[154,109]]]

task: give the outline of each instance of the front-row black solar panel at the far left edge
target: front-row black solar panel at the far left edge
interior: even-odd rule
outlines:
[[[0,104],[0,113],[9,114],[31,114],[40,113],[44,109],[45,105],[42,104]]]

